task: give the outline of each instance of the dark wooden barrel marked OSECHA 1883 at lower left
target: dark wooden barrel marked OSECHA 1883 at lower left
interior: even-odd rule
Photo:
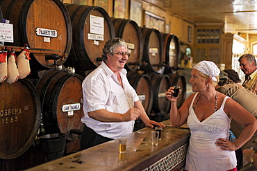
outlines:
[[[15,159],[28,150],[40,127],[41,102],[28,80],[0,84],[0,159]]]

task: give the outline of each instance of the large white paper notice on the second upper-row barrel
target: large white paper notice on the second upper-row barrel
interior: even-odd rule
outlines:
[[[90,33],[97,35],[104,35],[104,19],[103,17],[97,17],[90,15]]]

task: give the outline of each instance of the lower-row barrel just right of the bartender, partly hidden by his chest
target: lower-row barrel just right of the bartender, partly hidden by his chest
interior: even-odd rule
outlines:
[[[147,114],[150,114],[154,100],[151,79],[148,75],[139,74],[134,71],[129,71],[127,78],[128,82],[137,92],[144,110],[147,112]]]

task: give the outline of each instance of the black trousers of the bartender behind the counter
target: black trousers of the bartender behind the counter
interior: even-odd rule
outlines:
[[[111,140],[113,139],[101,136],[85,125],[81,134],[81,150],[85,150],[89,147],[94,147],[95,145],[106,143]]]

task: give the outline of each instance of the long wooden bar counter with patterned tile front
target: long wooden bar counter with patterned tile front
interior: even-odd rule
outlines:
[[[151,131],[145,127],[128,134],[126,154],[119,154],[117,139],[56,159],[28,170],[180,170],[185,165],[190,130],[171,127],[169,120],[157,146],[151,145]]]

